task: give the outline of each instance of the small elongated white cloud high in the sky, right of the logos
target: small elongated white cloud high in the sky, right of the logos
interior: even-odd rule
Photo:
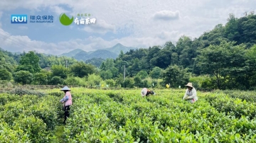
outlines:
[[[158,11],[154,13],[154,19],[171,21],[179,18],[179,11]]]

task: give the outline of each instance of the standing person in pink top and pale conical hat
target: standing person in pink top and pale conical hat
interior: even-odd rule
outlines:
[[[65,86],[64,88],[60,89],[60,91],[64,91],[65,96],[60,100],[61,103],[63,103],[63,110],[65,111],[64,113],[64,124],[67,118],[69,117],[69,110],[70,110],[70,105],[72,105],[72,96],[70,93],[70,88],[68,86]]]

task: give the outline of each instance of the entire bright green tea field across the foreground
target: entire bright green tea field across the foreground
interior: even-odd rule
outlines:
[[[185,89],[71,88],[62,125],[59,90],[1,93],[0,142],[256,142],[255,91],[198,91],[191,104]]]

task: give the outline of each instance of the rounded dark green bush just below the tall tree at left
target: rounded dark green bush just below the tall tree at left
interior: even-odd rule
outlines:
[[[17,71],[14,73],[14,81],[21,84],[31,84],[33,74],[29,71]]]

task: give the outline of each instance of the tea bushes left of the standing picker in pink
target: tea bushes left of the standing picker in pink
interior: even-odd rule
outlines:
[[[58,101],[54,96],[1,94],[1,142],[53,141],[52,130],[60,115]]]

